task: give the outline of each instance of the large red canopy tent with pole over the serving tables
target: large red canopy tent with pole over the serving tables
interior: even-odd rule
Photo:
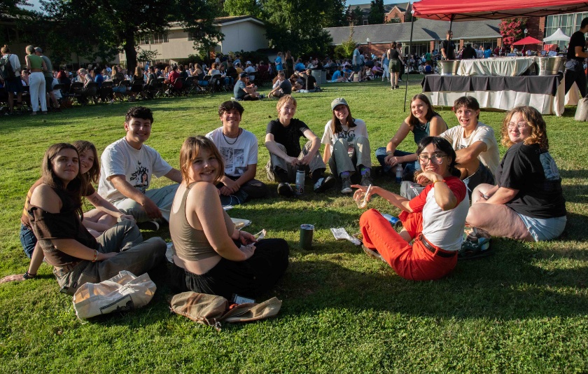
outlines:
[[[532,3],[515,0],[421,0],[412,4],[412,27],[414,17],[428,20],[449,21],[449,29],[454,21],[473,21],[479,18],[485,20],[500,20],[511,17],[540,17],[562,13],[588,11],[587,0],[536,0]],[[412,27],[410,29],[410,43],[412,46]],[[410,74],[407,74],[409,77]],[[405,91],[408,90],[408,78]]]

